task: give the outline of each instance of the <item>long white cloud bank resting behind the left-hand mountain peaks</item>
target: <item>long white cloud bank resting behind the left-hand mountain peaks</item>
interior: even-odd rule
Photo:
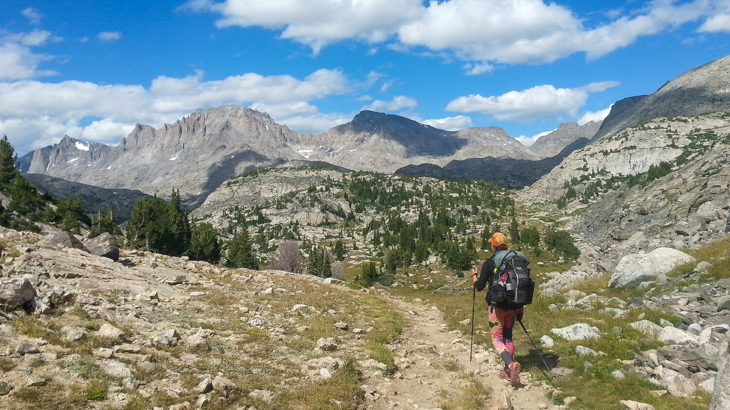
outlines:
[[[198,71],[183,78],[158,76],[150,87],[70,80],[0,82],[0,135],[7,134],[20,154],[64,134],[115,143],[137,122],[161,127],[195,109],[226,103],[267,111],[300,132],[322,131],[342,124],[343,116],[322,114],[309,101],[344,92],[346,85],[339,70],[318,70],[304,79],[248,73],[214,81],[205,81]]]

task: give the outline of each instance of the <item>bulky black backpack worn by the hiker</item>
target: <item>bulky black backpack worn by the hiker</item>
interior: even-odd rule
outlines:
[[[504,256],[494,268],[487,293],[487,303],[506,309],[518,309],[532,303],[535,282],[530,278],[529,261],[515,251]]]

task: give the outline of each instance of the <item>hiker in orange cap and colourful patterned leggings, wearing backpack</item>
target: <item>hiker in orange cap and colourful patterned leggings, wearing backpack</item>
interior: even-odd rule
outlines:
[[[485,287],[488,287],[486,300],[489,304],[489,328],[492,343],[494,350],[499,352],[502,360],[504,360],[504,370],[499,373],[499,378],[507,379],[512,387],[517,387],[520,385],[520,370],[522,367],[520,363],[514,360],[515,345],[512,343],[512,328],[515,326],[515,320],[522,320],[524,305],[532,301],[534,282],[529,279],[529,269],[526,268],[529,264],[527,257],[520,251],[509,251],[507,249],[507,237],[502,232],[493,234],[489,243],[492,245],[493,255],[484,261],[482,273],[478,279],[477,269],[472,270],[472,280],[474,280],[474,287],[477,291],[481,292]],[[526,301],[526,303],[507,301],[504,296],[504,293],[509,293],[512,290],[510,281],[505,281],[505,277],[508,276],[505,273],[505,264],[510,265],[510,261],[517,261],[515,264],[519,266],[516,269],[526,270],[526,281],[531,283],[532,288],[527,290],[529,292],[529,301],[526,301],[523,297],[518,298],[519,301]],[[495,275],[498,271],[500,272],[499,276]],[[500,287],[500,285],[503,286]],[[501,293],[498,293],[500,289]],[[512,291],[512,298],[514,298],[515,292]]]

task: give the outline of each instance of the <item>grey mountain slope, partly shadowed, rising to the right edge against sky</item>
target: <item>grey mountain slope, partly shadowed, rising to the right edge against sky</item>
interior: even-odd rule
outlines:
[[[695,117],[726,109],[730,109],[730,55],[686,71],[651,95],[619,101],[594,139],[655,118]]]

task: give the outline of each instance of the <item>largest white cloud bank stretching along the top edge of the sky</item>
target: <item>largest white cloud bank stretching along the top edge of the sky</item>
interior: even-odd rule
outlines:
[[[479,74],[490,63],[545,63],[575,52],[598,58],[641,36],[702,19],[709,19],[704,30],[724,31],[727,25],[717,16],[723,7],[729,11],[708,0],[651,1],[613,10],[595,26],[544,0],[192,0],[183,9],[220,15],[218,27],[277,30],[315,53],[344,39],[401,51],[427,47],[475,62],[467,73]]]

